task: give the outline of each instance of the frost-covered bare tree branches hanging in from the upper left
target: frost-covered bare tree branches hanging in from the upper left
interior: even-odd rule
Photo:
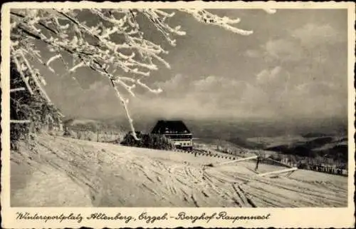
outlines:
[[[137,139],[127,108],[128,100],[121,90],[123,88],[135,96],[133,89],[141,86],[152,93],[160,93],[161,88],[150,88],[144,83],[145,78],[158,69],[158,63],[169,68],[169,63],[162,58],[167,51],[162,49],[161,44],[145,38],[137,16],[150,21],[169,44],[175,46],[174,36],[185,34],[180,26],[172,28],[167,23],[175,11],[182,11],[197,21],[220,26],[236,34],[252,34],[252,31],[234,26],[239,19],[216,16],[201,9],[14,9],[11,10],[11,61],[21,74],[28,92],[33,93],[28,83],[31,78],[48,103],[51,103],[51,99],[43,89],[46,82],[38,69],[33,67],[33,60],[53,72],[51,63],[62,61],[73,78],[71,73],[82,67],[100,73],[108,78],[108,83],[114,88],[125,108],[132,134]],[[273,10],[268,12],[274,13]],[[94,17],[95,24],[90,25],[83,20],[83,14],[85,18]],[[53,56],[48,60],[43,59],[38,44],[44,44]]]

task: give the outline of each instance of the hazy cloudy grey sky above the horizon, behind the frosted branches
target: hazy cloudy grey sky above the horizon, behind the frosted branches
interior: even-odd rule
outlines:
[[[344,9],[212,10],[239,17],[250,36],[176,14],[186,36],[164,47],[171,69],[152,72],[159,95],[138,92],[133,116],[143,118],[346,118],[347,11]],[[156,42],[157,32],[143,25]],[[146,29],[145,29],[146,28]],[[44,54],[43,56],[46,56]],[[58,69],[63,66],[58,66]],[[124,112],[107,79],[79,70],[76,84],[44,71],[52,100],[67,116],[109,118]]]

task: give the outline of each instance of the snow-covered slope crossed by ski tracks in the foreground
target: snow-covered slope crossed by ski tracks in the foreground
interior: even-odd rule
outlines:
[[[11,206],[347,206],[345,177],[301,170],[260,177],[253,162],[219,166],[224,161],[42,135],[32,150],[11,151]],[[259,173],[280,169],[258,166]]]

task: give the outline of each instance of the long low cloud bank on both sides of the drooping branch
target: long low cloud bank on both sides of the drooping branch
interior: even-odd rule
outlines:
[[[330,81],[297,82],[281,66],[266,68],[249,81],[220,76],[191,78],[177,74],[155,83],[163,93],[137,93],[128,104],[133,117],[145,118],[269,118],[340,116],[347,111],[347,94]],[[69,90],[71,115],[123,116],[109,83],[96,81],[87,89]],[[123,90],[122,90],[123,91]],[[342,90],[341,90],[342,91]],[[75,92],[75,93],[74,93]],[[341,102],[340,102],[341,101]]]

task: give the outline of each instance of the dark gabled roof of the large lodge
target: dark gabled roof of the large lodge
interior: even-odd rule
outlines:
[[[174,134],[174,133],[191,133],[183,121],[164,121],[159,120],[151,133],[157,134]]]

